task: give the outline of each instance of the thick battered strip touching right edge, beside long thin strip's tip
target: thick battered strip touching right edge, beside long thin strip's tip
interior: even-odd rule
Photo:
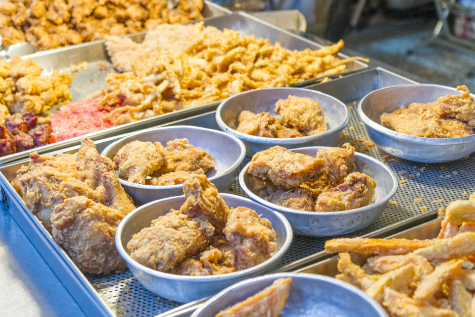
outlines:
[[[460,233],[438,242],[436,245],[413,251],[412,254],[423,256],[429,261],[450,260],[475,254],[475,232]]]

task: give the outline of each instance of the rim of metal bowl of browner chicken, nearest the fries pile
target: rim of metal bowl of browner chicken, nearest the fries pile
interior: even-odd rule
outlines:
[[[331,147],[319,147],[319,146],[315,146],[315,147],[304,147],[304,148],[296,148],[296,149],[290,149],[289,151],[295,151],[295,150],[315,150],[315,149],[330,149]],[[254,199],[255,201],[259,202],[259,204],[262,204],[264,206],[267,206],[269,208],[272,208],[272,209],[275,209],[276,211],[279,211],[279,212],[288,212],[288,213],[294,213],[294,214],[302,214],[302,215],[347,215],[347,214],[353,214],[353,213],[360,213],[360,212],[365,212],[365,211],[368,211],[368,210],[373,210],[373,209],[376,209],[378,207],[380,207],[381,205],[384,205],[386,204],[389,199],[391,199],[392,196],[394,196],[394,194],[396,193],[397,191],[397,188],[398,188],[398,183],[397,183],[397,178],[396,176],[394,175],[394,173],[389,169],[389,167],[387,167],[385,164],[383,164],[382,162],[380,162],[378,159],[375,159],[369,155],[366,155],[366,154],[363,154],[363,153],[360,153],[360,152],[355,152],[355,157],[363,157],[365,159],[368,159],[370,161],[372,161],[373,163],[375,163],[376,165],[380,165],[381,167],[384,168],[384,170],[386,170],[386,172],[388,172],[388,174],[391,176],[392,178],[392,182],[393,182],[393,185],[392,185],[392,189],[391,191],[386,195],[384,196],[379,202],[376,202],[374,204],[370,204],[370,205],[367,205],[367,206],[364,206],[364,207],[360,207],[360,208],[355,208],[355,209],[350,209],[350,210],[347,210],[347,211],[329,211],[329,212],[323,212],[323,211],[302,211],[302,210],[296,210],[296,209],[291,209],[291,208],[287,208],[287,207],[283,207],[283,206],[279,206],[279,205],[276,205],[276,204],[273,204],[271,202],[268,202],[266,201],[265,199],[257,196],[256,194],[254,194],[253,192],[251,192],[249,190],[249,188],[247,187],[247,185],[245,184],[244,182],[244,175],[247,173],[247,169],[249,168],[249,165],[251,163],[251,161],[249,161],[245,166],[244,168],[242,168],[242,170],[240,171],[239,173],[239,185],[241,186],[242,190],[246,193],[246,195],[252,197],[252,199]],[[378,184],[377,184],[378,185]]]

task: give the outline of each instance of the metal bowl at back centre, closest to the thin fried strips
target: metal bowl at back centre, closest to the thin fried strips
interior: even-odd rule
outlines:
[[[289,95],[307,97],[318,101],[323,109],[327,123],[327,131],[298,138],[265,138],[249,135],[236,131],[238,116],[242,110],[254,113],[269,111],[271,115],[278,116],[274,112],[275,104],[279,99],[286,99]],[[350,113],[348,108],[338,99],[304,88],[267,88],[249,90],[239,93],[224,100],[216,110],[216,122],[221,130],[228,132],[244,142],[247,155],[280,145],[285,148],[301,146],[333,146],[339,138],[339,132],[348,124]]]

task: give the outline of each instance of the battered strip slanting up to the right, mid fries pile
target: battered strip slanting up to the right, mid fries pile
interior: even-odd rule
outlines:
[[[423,279],[414,291],[413,299],[421,303],[432,297],[440,287],[462,267],[463,260],[451,260],[435,267],[434,271]]]

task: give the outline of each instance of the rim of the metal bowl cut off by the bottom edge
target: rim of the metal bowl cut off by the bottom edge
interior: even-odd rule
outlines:
[[[293,277],[302,277],[304,279],[324,281],[324,282],[329,282],[331,284],[337,285],[338,287],[341,287],[343,289],[349,290],[350,292],[356,293],[356,295],[358,295],[360,298],[362,298],[363,300],[366,300],[376,310],[376,312],[380,316],[388,316],[386,314],[386,312],[384,311],[384,309],[381,307],[381,305],[378,302],[376,302],[375,299],[370,297],[368,294],[366,294],[364,291],[362,291],[358,287],[356,287],[354,285],[351,285],[350,283],[341,281],[341,280],[336,279],[336,278],[331,277],[331,276],[322,275],[322,274],[302,273],[302,272],[287,272],[287,273],[282,272],[282,273],[271,273],[271,274],[265,274],[265,275],[261,275],[261,276],[247,278],[247,279],[239,281],[239,282],[237,282],[237,283],[235,283],[231,286],[228,286],[225,289],[223,289],[221,292],[213,295],[205,303],[203,303],[203,305],[200,308],[198,308],[191,315],[191,317],[196,317],[199,314],[201,314],[202,311],[204,311],[208,307],[208,305],[210,305],[211,303],[223,298],[231,290],[238,289],[238,288],[243,287],[245,285],[253,284],[254,282],[257,282],[257,281],[276,280],[278,278],[285,278],[285,277],[292,277],[292,278]],[[252,296],[252,294],[250,294],[249,296]],[[223,307],[223,309],[224,309],[224,307]]]

